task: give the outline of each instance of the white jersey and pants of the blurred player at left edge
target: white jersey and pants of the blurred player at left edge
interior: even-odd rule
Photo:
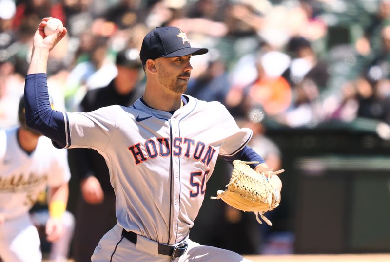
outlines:
[[[57,150],[41,136],[28,154],[21,149],[18,128],[0,130],[0,257],[4,262],[42,260],[36,227],[28,214],[39,192],[70,179],[66,150]]]

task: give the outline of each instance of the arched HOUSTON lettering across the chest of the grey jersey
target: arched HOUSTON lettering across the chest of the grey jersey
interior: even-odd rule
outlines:
[[[190,138],[175,137],[172,143],[172,150],[170,144],[169,137],[152,138],[143,144],[137,143],[132,145],[128,149],[132,153],[136,165],[158,156],[168,157],[172,152],[173,156],[192,157],[208,166],[215,153],[215,149],[212,146],[206,145],[201,141],[195,142],[194,139]]]

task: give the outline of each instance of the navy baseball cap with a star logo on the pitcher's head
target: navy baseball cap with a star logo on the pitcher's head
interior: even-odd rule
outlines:
[[[148,59],[158,57],[178,57],[188,55],[203,55],[209,52],[207,48],[191,47],[186,33],[177,27],[157,27],[143,38],[139,58],[143,65]]]

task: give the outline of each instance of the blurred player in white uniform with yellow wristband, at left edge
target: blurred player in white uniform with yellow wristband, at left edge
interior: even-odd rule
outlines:
[[[23,99],[19,121],[19,127],[0,130],[0,257],[4,262],[40,262],[39,234],[28,211],[49,187],[46,239],[59,240],[70,172],[66,150],[55,149],[26,126]]]

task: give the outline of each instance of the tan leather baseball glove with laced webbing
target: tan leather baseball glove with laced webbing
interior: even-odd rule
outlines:
[[[217,196],[212,198],[222,199],[239,210],[254,212],[260,224],[262,222],[258,216],[268,225],[272,225],[264,213],[279,206],[281,182],[276,175],[284,170],[272,172],[272,168],[261,168],[260,173],[247,165],[251,163],[254,162],[234,160],[233,173],[226,185],[228,189],[218,190]]]

